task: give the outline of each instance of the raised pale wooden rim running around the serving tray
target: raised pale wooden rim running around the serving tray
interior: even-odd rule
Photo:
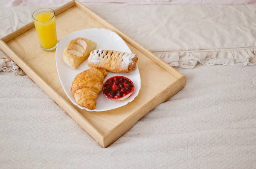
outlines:
[[[106,20],[104,20],[102,17],[97,15],[95,12],[88,9],[86,6],[84,6],[82,3],[80,3],[78,0],[72,0],[69,3],[64,4],[63,6],[55,9],[55,14],[60,14],[63,11],[66,11],[67,9],[70,9],[73,6],[78,6],[81,10],[85,11],[87,14],[89,14],[91,17],[93,17],[95,20],[97,20],[99,23],[102,23],[103,26],[107,27],[108,29],[116,32],[119,34],[120,37],[123,38],[126,42],[131,44],[135,49],[139,50],[145,56],[153,60],[155,63],[157,63],[159,66],[161,66],[163,69],[165,69],[170,74],[174,75],[177,80],[167,87],[165,90],[163,90],[159,95],[152,98],[151,100],[157,100],[154,104],[150,104],[151,100],[148,101],[141,109],[137,110],[133,115],[125,119],[122,123],[120,123],[118,126],[116,126],[114,129],[112,129],[110,132],[108,132],[105,135],[102,135],[93,125],[91,125],[70,103],[68,103],[64,98],[62,98],[60,95],[58,95],[57,92],[55,92],[54,89],[52,89],[33,69],[31,69],[15,52],[6,44],[8,41],[14,39],[15,37],[18,37],[19,35],[29,31],[30,29],[34,28],[34,23],[28,23],[27,25],[23,26],[22,28],[18,29],[15,32],[12,32],[11,34],[8,34],[7,36],[1,38],[0,40],[0,49],[2,49],[15,63],[17,63],[18,66],[35,82],[37,85],[44,90],[44,92],[47,93],[59,106],[61,106],[62,109],[64,109],[65,112],[67,112],[70,117],[75,120],[79,126],[81,126],[91,137],[93,137],[94,140],[96,140],[103,148],[108,147],[111,143],[113,143],[115,140],[117,140],[119,137],[121,137],[125,132],[127,132],[131,127],[140,120],[141,117],[143,117],[145,114],[147,114],[149,111],[154,109],[157,105],[160,103],[163,103],[164,101],[171,98],[173,95],[175,95],[177,92],[179,92],[183,87],[186,85],[186,77],[175,70],[172,66],[165,63],[163,60],[158,58],[156,55],[154,55],[152,52],[148,51],[148,49],[145,49],[143,46],[141,46],[139,43],[137,43],[135,40],[131,39],[131,37],[128,37],[126,34],[124,34],[122,31],[108,23]]]

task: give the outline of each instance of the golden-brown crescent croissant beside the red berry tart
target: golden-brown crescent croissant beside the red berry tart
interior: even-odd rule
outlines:
[[[94,109],[96,98],[102,90],[102,82],[107,76],[105,69],[91,68],[76,75],[71,86],[71,92],[76,102],[88,109]]]

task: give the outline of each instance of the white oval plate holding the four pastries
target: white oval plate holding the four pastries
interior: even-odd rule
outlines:
[[[86,109],[87,111],[100,112],[100,111],[107,111],[107,110],[116,109],[116,108],[125,106],[126,104],[134,100],[134,98],[139,94],[139,91],[140,91],[140,72],[139,72],[138,66],[136,66],[134,71],[131,73],[108,72],[108,75],[105,78],[105,80],[107,80],[110,77],[118,75],[118,76],[125,76],[131,79],[132,82],[134,83],[135,89],[134,89],[134,93],[128,99],[123,100],[121,102],[115,102],[105,97],[101,91],[96,100],[97,105],[93,110],[87,109],[86,107],[80,106],[78,103],[76,103],[76,100],[72,95],[72,92],[70,91],[72,82],[77,74],[79,74],[80,72],[83,72],[86,69],[90,69],[90,67],[87,65],[87,60],[84,60],[84,62],[79,65],[77,70],[71,69],[62,60],[62,55],[69,41],[77,37],[85,37],[87,39],[93,40],[94,42],[97,43],[96,49],[108,49],[108,50],[131,53],[131,50],[126,45],[125,41],[122,40],[122,38],[118,34],[107,29],[97,29],[97,28],[84,29],[81,31],[73,32],[65,36],[63,39],[61,39],[56,49],[56,66],[57,66],[58,76],[61,81],[61,85],[67,97],[70,98],[72,103],[78,106],[80,109]]]

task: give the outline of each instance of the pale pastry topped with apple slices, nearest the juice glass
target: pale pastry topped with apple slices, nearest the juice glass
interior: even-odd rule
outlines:
[[[78,66],[87,59],[90,52],[96,49],[97,43],[84,37],[71,40],[64,49],[62,59],[67,66],[77,69]]]

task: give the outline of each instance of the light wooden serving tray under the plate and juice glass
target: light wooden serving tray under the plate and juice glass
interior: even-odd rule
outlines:
[[[65,95],[58,78],[55,51],[41,50],[34,23],[29,23],[0,40],[0,49],[102,147],[109,146],[151,109],[168,100],[185,86],[185,76],[79,1],[73,0],[61,6],[55,9],[55,13],[58,40],[81,29],[110,29],[119,34],[131,51],[139,57],[141,90],[135,100],[118,109],[87,112],[73,105]]]

